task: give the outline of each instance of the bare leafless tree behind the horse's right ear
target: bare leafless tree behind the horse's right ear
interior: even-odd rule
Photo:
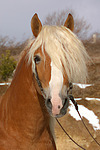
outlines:
[[[85,21],[84,18],[79,18],[73,10],[64,10],[61,12],[54,12],[49,14],[44,21],[47,25],[63,25],[67,15],[71,13],[74,17],[74,33],[81,39],[87,39],[87,35],[90,29],[90,25]]]

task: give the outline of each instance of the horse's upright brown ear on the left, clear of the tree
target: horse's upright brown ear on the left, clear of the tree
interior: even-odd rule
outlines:
[[[41,24],[41,21],[39,20],[37,14],[34,14],[34,16],[32,17],[32,20],[31,20],[31,29],[32,29],[33,35],[35,37],[38,36],[38,34],[40,33],[40,31],[42,29],[42,24]]]

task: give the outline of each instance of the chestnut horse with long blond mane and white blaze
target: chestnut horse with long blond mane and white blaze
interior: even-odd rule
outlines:
[[[0,150],[56,150],[53,118],[67,112],[69,83],[87,78],[88,55],[71,14],[64,26],[43,27],[35,14],[31,29],[35,39],[0,100]]]

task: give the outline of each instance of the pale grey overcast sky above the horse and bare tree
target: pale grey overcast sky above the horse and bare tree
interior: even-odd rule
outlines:
[[[100,33],[100,0],[0,0],[0,36],[17,41],[29,38],[30,21],[35,12],[43,22],[48,14],[72,9]]]

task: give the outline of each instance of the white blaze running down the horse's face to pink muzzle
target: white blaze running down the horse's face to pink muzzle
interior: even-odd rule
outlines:
[[[60,98],[60,92],[63,86],[63,74],[53,62],[51,62],[51,80],[49,82],[51,103],[52,103],[52,114],[57,115],[60,113],[62,100]]]

